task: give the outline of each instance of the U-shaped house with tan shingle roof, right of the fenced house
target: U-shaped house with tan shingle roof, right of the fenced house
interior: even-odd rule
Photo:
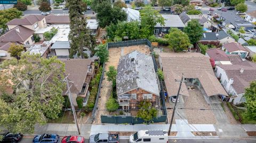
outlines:
[[[209,57],[201,53],[159,53],[158,60],[169,101],[177,96],[180,82],[175,80],[180,80],[182,74],[188,82],[181,83],[180,95],[188,96],[190,86],[196,86],[207,103],[217,95],[228,96],[214,75]]]

